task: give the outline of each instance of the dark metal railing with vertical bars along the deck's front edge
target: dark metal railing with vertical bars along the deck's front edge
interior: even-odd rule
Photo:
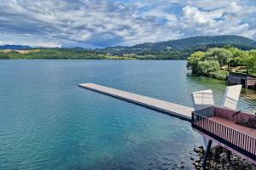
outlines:
[[[192,113],[192,127],[256,161],[256,139],[253,137],[195,112]]]

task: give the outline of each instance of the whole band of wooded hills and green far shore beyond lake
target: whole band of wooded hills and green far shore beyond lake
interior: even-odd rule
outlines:
[[[256,42],[241,36],[188,37],[166,42],[147,42],[134,46],[109,48],[30,48],[28,46],[0,46],[0,59],[188,59],[196,51],[209,48],[256,49]],[[208,54],[208,53],[207,53]],[[233,54],[234,55],[234,54]],[[208,56],[208,55],[207,55]],[[210,59],[207,59],[210,60]],[[213,65],[212,61],[211,65]],[[215,62],[216,66],[217,63]],[[219,63],[222,67],[222,63]],[[194,69],[194,68],[193,68]],[[194,72],[195,71],[194,69]],[[199,72],[198,72],[199,73]]]

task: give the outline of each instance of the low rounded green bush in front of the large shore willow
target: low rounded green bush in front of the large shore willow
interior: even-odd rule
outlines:
[[[219,63],[216,60],[199,61],[197,65],[197,73],[208,75],[208,73],[219,70]]]

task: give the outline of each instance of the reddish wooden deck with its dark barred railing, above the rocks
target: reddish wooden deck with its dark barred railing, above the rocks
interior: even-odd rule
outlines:
[[[220,109],[218,108],[217,111]],[[224,109],[221,109],[224,110]],[[229,112],[225,111],[224,116],[228,117]],[[230,121],[227,118],[220,117],[222,113],[215,116],[201,116],[195,113],[192,127],[207,139],[223,146],[227,150],[241,156],[247,161],[256,163],[256,129],[254,127],[246,127]],[[247,117],[245,113],[241,113],[242,118]],[[234,117],[235,119],[235,117]],[[241,119],[243,120],[243,119]],[[244,119],[245,120],[245,119]],[[237,120],[236,120],[237,121]]]

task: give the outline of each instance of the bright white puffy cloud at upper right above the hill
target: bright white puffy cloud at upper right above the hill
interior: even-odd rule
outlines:
[[[255,39],[255,7],[231,2],[230,5],[212,10],[183,7],[183,27],[192,28],[190,34],[218,35],[234,34]]]

